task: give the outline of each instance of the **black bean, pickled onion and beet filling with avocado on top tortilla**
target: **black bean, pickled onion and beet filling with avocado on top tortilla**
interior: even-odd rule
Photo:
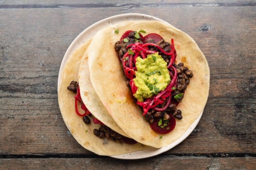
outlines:
[[[114,45],[122,63],[126,84],[131,89],[143,116],[158,133],[169,133],[175,128],[175,118],[182,119],[176,109],[185,95],[193,72],[183,63],[175,64],[177,53],[160,35],[150,33],[143,37],[128,30]],[[175,118],[174,118],[175,117]]]

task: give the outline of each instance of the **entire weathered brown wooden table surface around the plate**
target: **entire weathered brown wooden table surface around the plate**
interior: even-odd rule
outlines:
[[[256,169],[255,6],[255,0],[0,0],[0,169]],[[123,13],[156,16],[188,33],[211,72],[193,133],[163,154],[130,161],[81,147],[57,100],[69,44],[91,24]]]

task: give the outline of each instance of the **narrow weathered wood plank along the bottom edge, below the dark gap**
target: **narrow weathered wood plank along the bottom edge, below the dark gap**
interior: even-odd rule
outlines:
[[[140,160],[114,158],[0,159],[0,169],[74,169],[74,170],[254,170],[256,158],[206,158],[194,156],[159,156]]]

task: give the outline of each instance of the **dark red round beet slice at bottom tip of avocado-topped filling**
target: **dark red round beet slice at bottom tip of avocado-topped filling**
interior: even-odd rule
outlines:
[[[175,118],[171,114],[168,114],[168,115],[171,117],[171,119],[169,120],[169,124],[167,124],[167,126],[164,126],[164,128],[161,128],[161,126],[164,125],[163,118],[162,118],[162,124],[160,126],[158,126],[158,122],[160,120],[156,118],[156,119],[154,119],[153,123],[150,125],[151,128],[154,131],[156,131],[157,133],[161,133],[161,134],[165,134],[165,133],[171,132],[175,128],[176,120],[175,120]]]

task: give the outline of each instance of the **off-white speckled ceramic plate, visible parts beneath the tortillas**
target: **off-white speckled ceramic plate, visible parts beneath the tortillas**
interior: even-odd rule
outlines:
[[[132,20],[132,21],[135,21],[135,20],[163,21],[154,16],[149,16],[149,15],[145,15],[145,14],[121,14],[121,15],[111,16],[109,18],[103,19],[101,21],[98,21],[97,23],[92,24],[88,28],[86,28],[82,33],[80,33],[76,37],[75,40],[73,40],[73,42],[70,44],[69,48],[67,49],[67,51],[64,55],[62,64],[59,69],[58,93],[59,93],[59,83],[60,83],[60,79],[62,77],[62,71],[63,71],[64,65],[66,64],[66,61],[68,60],[69,56],[71,56],[71,54],[77,49],[77,47],[80,44],[82,44],[83,42],[85,42],[86,40],[89,40],[90,38],[92,38],[93,35],[95,35],[102,28],[112,25],[112,24],[115,24],[115,23],[119,23],[121,21],[130,21],[130,20]],[[165,21],[163,21],[163,22],[165,22]],[[202,114],[203,114],[203,112],[201,112],[201,114],[198,116],[198,118],[192,123],[192,125],[187,129],[187,131],[182,136],[180,136],[177,140],[175,140],[173,143],[167,145],[166,147],[162,147],[159,149],[149,147],[142,151],[135,151],[135,152],[131,152],[128,154],[122,154],[122,155],[111,156],[111,157],[119,158],[119,159],[141,159],[141,158],[148,158],[151,156],[155,156],[155,155],[161,154],[165,151],[168,151],[169,149],[172,149],[177,144],[179,144],[180,142],[185,140],[188,135],[190,135],[190,133],[197,126],[197,123],[201,119]]]

